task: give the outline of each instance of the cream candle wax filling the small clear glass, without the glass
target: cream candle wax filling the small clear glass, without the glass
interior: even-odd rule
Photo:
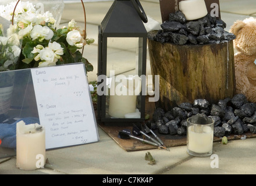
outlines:
[[[202,127],[202,131],[198,133],[195,131],[195,127],[197,126],[190,126],[189,127],[189,142],[187,144],[187,148],[190,151],[196,153],[209,153],[212,151],[213,145],[213,137],[214,131],[209,126],[200,126]]]

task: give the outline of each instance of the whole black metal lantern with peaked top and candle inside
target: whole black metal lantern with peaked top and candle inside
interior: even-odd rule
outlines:
[[[98,119],[122,126],[145,119],[147,16],[138,0],[115,0],[98,33]],[[124,68],[125,67],[125,68]]]

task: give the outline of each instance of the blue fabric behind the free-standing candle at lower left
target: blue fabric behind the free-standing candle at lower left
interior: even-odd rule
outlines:
[[[36,117],[25,117],[12,124],[0,123],[0,139],[2,140],[2,144],[0,146],[5,148],[16,148],[16,124],[22,120],[26,124],[40,124],[39,119]]]

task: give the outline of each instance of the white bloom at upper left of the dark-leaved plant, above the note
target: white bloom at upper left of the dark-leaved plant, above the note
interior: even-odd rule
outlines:
[[[47,26],[35,25],[31,30],[30,37],[32,41],[36,39],[39,39],[39,41],[51,40],[54,37],[54,32]]]

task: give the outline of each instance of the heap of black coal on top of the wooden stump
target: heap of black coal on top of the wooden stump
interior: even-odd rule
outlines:
[[[163,22],[161,28],[152,40],[176,45],[203,45],[236,38],[236,35],[224,30],[226,23],[223,20],[209,14],[197,20],[187,21],[180,11],[170,13],[169,20]]]

